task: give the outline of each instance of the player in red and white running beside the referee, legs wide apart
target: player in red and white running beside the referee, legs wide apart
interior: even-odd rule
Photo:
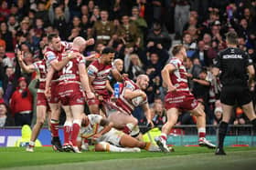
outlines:
[[[183,61],[187,58],[186,47],[176,45],[172,50],[173,58],[162,70],[164,85],[167,87],[165,95],[165,109],[167,122],[162,127],[162,134],[155,138],[155,142],[162,151],[169,152],[166,145],[167,134],[176,124],[180,111],[189,111],[197,117],[198,144],[215,148],[215,145],[208,142],[206,136],[206,114],[201,105],[198,105],[194,95],[189,91],[187,85],[187,70]]]

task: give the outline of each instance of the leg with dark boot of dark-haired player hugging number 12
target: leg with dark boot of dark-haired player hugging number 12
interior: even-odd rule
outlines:
[[[51,144],[55,151],[62,152],[62,145],[59,140],[59,115],[60,115],[60,105],[59,104],[49,104],[51,110],[50,119],[50,131],[52,135]]]

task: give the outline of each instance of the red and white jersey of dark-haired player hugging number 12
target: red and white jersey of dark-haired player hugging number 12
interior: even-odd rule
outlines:
[[[58,60],[61,61],[62,59],[62,55],[63,53],[65,53],[65,51],[69,50],[72,47],[72,45],[70,43],[61,42],[61,50],[60,51],[54,51],[51,48],[47,47],[47,51],[44,55],[44,58],[46,60],[46,65],[47,65],[47,70],[50,68],[50,62],[52,62],[53,60]],[[53,77],[52,80],[58,80],[59,78],[59,74],[56,72]]]

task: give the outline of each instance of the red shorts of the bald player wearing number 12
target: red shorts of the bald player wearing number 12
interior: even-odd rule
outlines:
[[[58,85],[59,100],[62,105],[84,105],[84,95],[79,84]]]

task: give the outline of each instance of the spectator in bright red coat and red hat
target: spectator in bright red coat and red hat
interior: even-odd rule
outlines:
[[[32,95],[27,89],[25,77],[18,79],[18,87],[11,98],[11,111],[15,117],[16,125],[31,125],[32,120]],[[22,104],[22,105],[20,105]]]

